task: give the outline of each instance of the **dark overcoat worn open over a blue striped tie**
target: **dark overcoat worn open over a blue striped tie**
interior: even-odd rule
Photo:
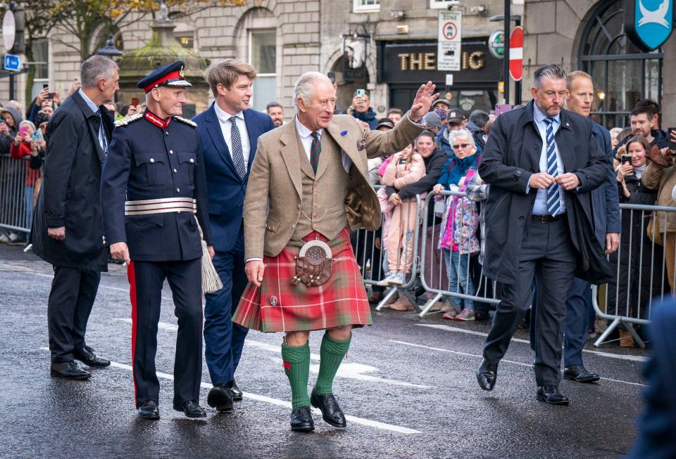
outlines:
[[[580,179],[579,188],[565,192],[568,226],[579,256],[576,276],[599,282],[610,273],[610,268],[594,238],[590,192],[606,180],[608,163],[592,134],[592,122],[568,110],[561,112],[556,145],[565,172]],[[537,195],[536,189],[528,193],[526,189],[530,176],[540,172],[541,153],[542,137],[534,122],[533,101],[496,118],[479,174],[491,185],[486,202],[484,268],[487,276],[498,282],[517,280],[524,226],[531,219]],[[589,273],[590,266],[604,272],[601,276]]]

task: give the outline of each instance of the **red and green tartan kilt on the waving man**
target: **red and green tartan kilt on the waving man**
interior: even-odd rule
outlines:
[[[347,228],[330,242],[315,232],[305,239],[312,240],[315,235],[331,247],[334,259],[331,278],[317,287],[294,285],[294,257],[298,256],[303,243],[289,241],[277,257],[263,259],[265,273],[261,287],[246,285],[232,316],[234,323],[261,332],[325,330],[373,323]]]

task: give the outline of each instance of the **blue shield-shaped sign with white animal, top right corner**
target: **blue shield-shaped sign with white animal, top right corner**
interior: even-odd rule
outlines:
[[[674,0],[626,0],[625,30],[644,51],[658,49],[672,32]]]

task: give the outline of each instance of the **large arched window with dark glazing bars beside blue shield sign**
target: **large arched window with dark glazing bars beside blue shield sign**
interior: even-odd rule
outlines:
[[[622,0],[603,0],[584,25],[578,68],[592,75],[596,98],[592,119],[608,129],[629,125],[629,112],[642,98],[661,103],[661,49],[643,53],[622,27]]]

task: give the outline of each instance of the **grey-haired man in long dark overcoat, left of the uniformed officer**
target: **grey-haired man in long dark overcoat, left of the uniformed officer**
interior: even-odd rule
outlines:
[[[54,113],[46,130],[44,182],[32,226],[33,252],[54,265],[47,322],[51,375],[87,379],[88,366],[110,362],[84,342],[87,320],[108,271],[99,205],[99,184],[113,131],[103,104],[118,90],[118,66],[92,56],[80,70],[82,89]]]

